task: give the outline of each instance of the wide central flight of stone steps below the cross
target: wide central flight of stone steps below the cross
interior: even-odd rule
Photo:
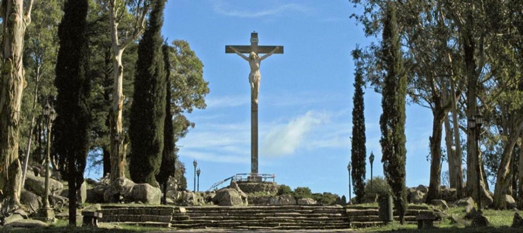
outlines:
[[[181,212],[175,211],[171,222],[172,227],[179,229],[349,228],[349,219],[342,206],[191,206],[180,209]]]

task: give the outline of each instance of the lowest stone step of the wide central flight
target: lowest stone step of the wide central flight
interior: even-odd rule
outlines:
[[[333,224],[318,224],[318,223],[244,223],[244,222],[214,222],[214,223],[197,223],[197,224],[171,224],[171,227],[175,228],[237,228],[237,227],[267,227],[267,228],[276,228],[276,227],[295,227],[295,228],[323,228],[323,227],[332,227],[332,228],[348,228],[348,223],[333,223]]]

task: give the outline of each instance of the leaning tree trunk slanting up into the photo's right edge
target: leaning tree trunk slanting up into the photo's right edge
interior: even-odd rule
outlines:
[[[496,209],[505,209],[507,207],[505,202],[505,195],[508,194],[508,190],[511,189],[510,177],[508,176],[510,173],[510,160],[521,130],[523,130],[523,121],[519,122],[517,128],[510,130],[510,132],[513,133],[510,134],[508,141],[504,143],[505,145],[501,155],[501,163],[499,164],[499,169],[497,170],[496,187],[494,189],[493,207]]]

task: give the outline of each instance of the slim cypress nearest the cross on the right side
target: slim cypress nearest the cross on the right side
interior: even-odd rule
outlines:
[[[353,97],[353,137],[352,147],[350,150],[351,164],[353,167],[352,178],[354,193],[356,193],[356,202],[362,203],[363,196],[365,196],[365,165],[367,148],[365,142],[365,103],[363,103],[363,61],[361,59],[361,51],[356,48],[352,52],[356,65],[356,73],[354,76],[354,97]]]

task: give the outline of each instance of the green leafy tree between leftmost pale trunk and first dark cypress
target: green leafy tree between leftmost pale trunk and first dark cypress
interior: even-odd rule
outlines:
[[[54,66],[56,51],[58,51],[58,24],[62,18],[62,0],[37,1],[31,13],[32,24],[28,26],[24,41],[24,64],[26,67],[27,88],[32,92],[25,92],[22,96],[22,124],[21,135],[27,137],[26,157],[24,158],[24,172],[22,173],[22,187],[24,186],[27,164],[30,154],[35,119],[40,112],[40,104],[50,95],[55,95]],[[30,125],[27,122],[30,121]],[[22,141],[20,141],[22,144]]]

